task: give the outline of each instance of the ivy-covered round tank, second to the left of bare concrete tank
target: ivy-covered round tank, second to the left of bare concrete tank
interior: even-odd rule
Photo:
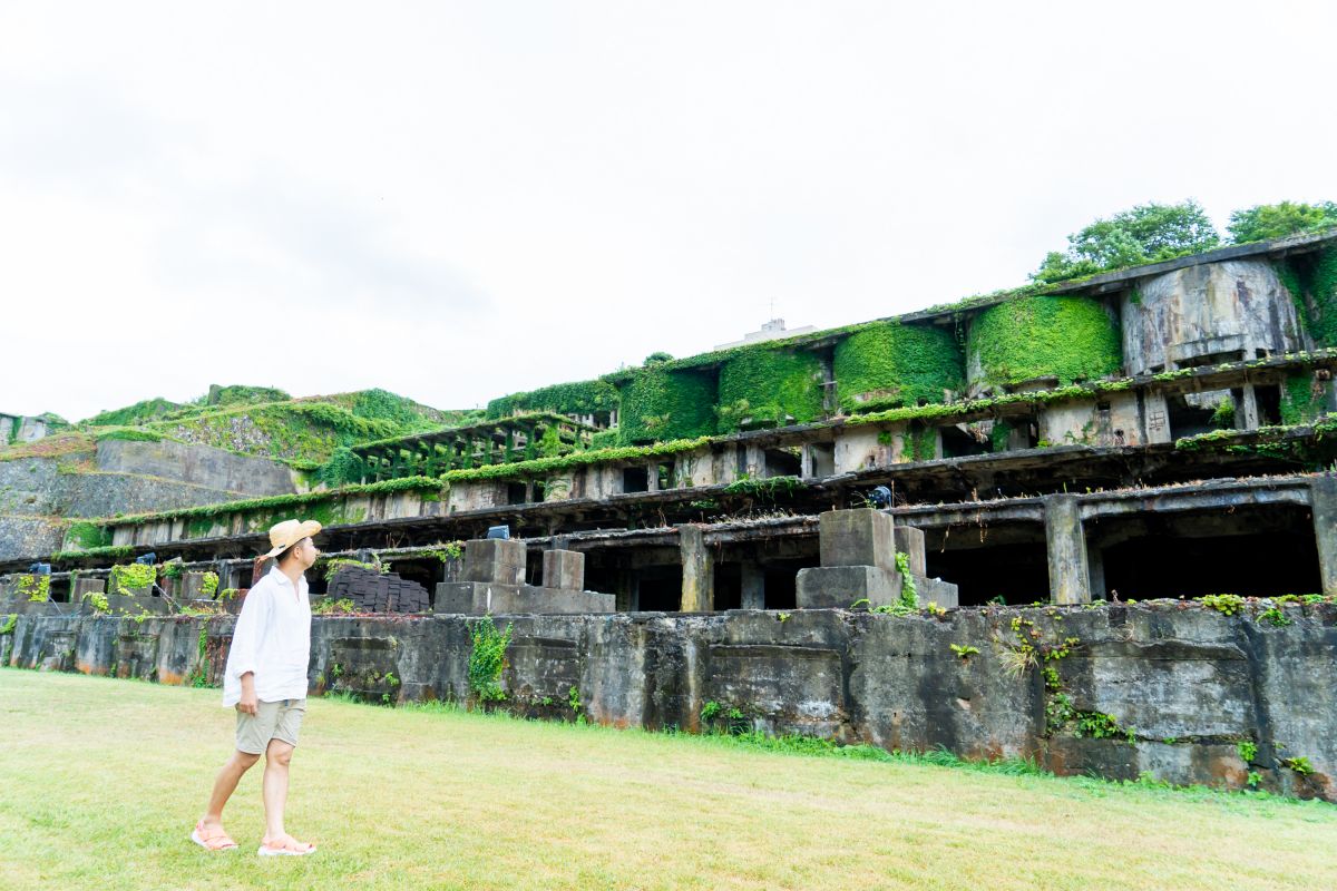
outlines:
[[[898,322],[874,322],[837,343],[833,373],[845,413],[940,403],[965,389],[956,337]]]

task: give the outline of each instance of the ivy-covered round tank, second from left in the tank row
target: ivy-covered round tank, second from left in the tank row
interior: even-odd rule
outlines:
[[[821,359],[813,353],[739,350],[719,369],[719,433],[817,421],[821,385]]]

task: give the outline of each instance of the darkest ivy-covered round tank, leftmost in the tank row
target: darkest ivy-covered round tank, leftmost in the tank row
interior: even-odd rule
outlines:
[[[622,385],[620,442],[639,445],[715,431],[715,377],[705,371],[642,369]]]

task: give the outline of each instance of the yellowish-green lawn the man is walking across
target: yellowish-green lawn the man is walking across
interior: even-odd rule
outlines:
[[[0,669],[4,888],[1330,888],[1337,807],[313,700],[289,830],[218,691]]]

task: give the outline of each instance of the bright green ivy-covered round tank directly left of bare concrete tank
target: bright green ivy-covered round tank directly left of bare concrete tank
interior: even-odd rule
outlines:
[[[1015,386],[1055,377],[1060,385],[1118,374],[1119,330],[1099,301],[1031,297],[999,303],[971,323],[967,353],[983,381]]]

